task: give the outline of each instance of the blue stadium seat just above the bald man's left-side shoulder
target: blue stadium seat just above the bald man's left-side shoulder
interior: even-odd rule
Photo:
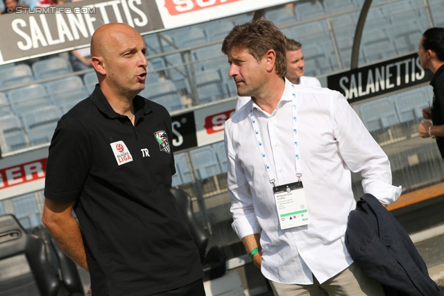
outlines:
[[[51,95],[53,103],[61,107],[65,113],[88,96],[83,81],[78,76],[46,82],[46,90]]]

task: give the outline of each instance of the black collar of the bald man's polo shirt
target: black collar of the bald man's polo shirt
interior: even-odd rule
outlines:
[[[92,103],[94,103],[94,105],[96,105],[96,107],[98,107],[101,112],[105,113],[111,119],[122,116],[112,109],[110,103],[108,103],[108,100],[105,98],[105,95],[101,91],[99,84],[96,85],[94,92],[92,92],[91,96],[89,97],[91,98]],[[136,118],[142,116],[142,114],[148,114],[152,110],[147,100],[144,100],[142,96],[135,96],[135,98],[133,99],[133,105]]]

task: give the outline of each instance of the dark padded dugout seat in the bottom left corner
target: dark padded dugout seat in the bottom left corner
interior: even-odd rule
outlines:
[[[28,234],[15,216],[0,216],[2,296],[58,295],[59,282],[41,238]]]

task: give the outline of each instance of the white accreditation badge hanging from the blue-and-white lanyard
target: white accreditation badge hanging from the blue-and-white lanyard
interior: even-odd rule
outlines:
[[[302,182],[273,187],[280,229],[310,224]]]

